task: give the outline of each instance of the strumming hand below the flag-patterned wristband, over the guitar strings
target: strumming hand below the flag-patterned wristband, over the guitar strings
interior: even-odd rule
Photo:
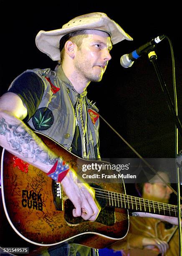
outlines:
[[[84,220],[96,220],[101,207],[95,199],[95,191],[86,183],[79,183],[81,179],[71,169],[62,180],[64,192],[71,200],[75,209],[73,216],[81,216]]]

